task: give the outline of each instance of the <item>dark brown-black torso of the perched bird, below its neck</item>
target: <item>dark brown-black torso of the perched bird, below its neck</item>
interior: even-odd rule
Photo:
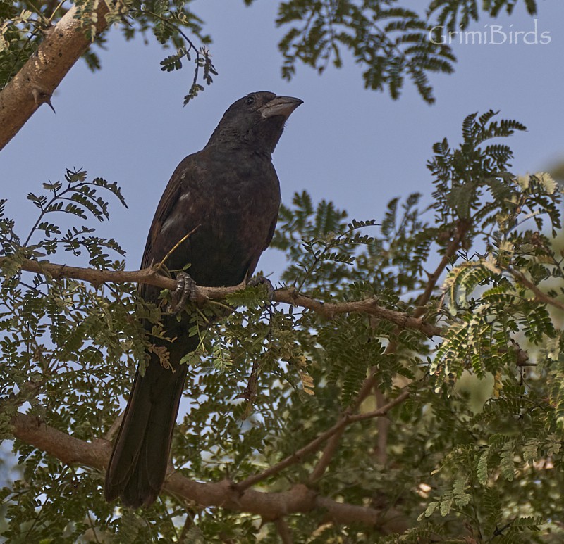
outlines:
[[[186,157],[168,182],[147,236],[142,267],[164,260],[200,285],[236,285],[250,276],[269,245],[279,205],[270,161],[234,158],[209,146]],[[257,175],[249,175],[252,169]],[[140,287],[148,300],[156,288]]]

